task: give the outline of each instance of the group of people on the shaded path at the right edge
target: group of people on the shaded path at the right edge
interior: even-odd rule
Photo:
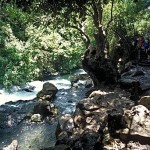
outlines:
[[[148,62],[150,62],[150,32],[145,34],[145,36],[143,36],[142,33],[139,33],[134,41],[134,44],[139,51],[139,55],[141,53],[145,53],[147,55]]]

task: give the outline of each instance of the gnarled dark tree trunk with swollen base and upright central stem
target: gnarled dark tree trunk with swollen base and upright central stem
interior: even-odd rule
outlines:
[[[113,1],[112,1],[113,2]],[[90,75],[94,86],[98,87],[102,82],[113,84],[116,82],[116,71],[111,61],[105,58],[106,36],[103,31],[102,22],[102,1],[96,2],[92,0],[93,22],[97,28],[97,33],[94,35],[96,47],[89,47],[83,56],[83,69]]]

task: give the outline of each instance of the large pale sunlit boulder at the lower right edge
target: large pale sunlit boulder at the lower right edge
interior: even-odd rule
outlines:
[[[150,144],[150,111],[142,105],[137,105],[131,110],[125,110],[124,117],[127,128],[119,131],[120,138],[124,141]]]

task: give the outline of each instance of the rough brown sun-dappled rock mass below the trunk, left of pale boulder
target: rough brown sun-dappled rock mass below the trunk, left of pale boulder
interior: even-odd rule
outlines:
[[[127,127],[126,123],[124,126],[125,121],[122,119],[122,108],[133,106],[133,102],[129,100],[129,95],[123,90],[118,91],[118,89],[113,91],[95,90],[98,92],[93,92],[89,97],[92,93],[90,92],[88,98],[80,100],[76,105],[74,114],[64,117],[67,120],[59,124],[56,145],[65,144],[74,150],[102,149],[104,144],[108,144],[112,140],[109,133],[110,128],[108,128],[108,113],[111,115],[112,110],[118,110],[117,112],[120,114],[117,115],[114,112],[111,115],[113,119],[109,122],[109,127],[114,127],[114,130],[119,130],[120,125],[122,126],[121,129]],[[73,124],[69,123],[69,125],[74,125],[73,128],[70,128],[72,129],[71,132],[62,130],[62,127],[67,125],[69,120],[72,121],[71,118]]]

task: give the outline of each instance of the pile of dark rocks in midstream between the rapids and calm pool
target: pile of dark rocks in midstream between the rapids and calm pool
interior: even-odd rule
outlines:
[[[37,105],[31,113],[27,115],[27,119],[31,122],[41,122],[45,118],[57,115],[57,107],[51,103],[58,89],[50,82],[43,84],[43,89],[37,94]],[[49,118],[51,119],[51,118]]]

